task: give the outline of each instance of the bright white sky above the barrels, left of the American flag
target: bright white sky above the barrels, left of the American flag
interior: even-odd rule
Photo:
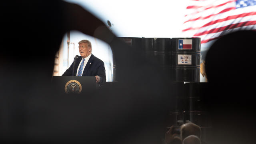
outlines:
[[[184,0],[66,0],[92,12],[120,37],[181,37]]]

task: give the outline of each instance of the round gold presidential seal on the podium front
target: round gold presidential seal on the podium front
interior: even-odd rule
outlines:
[[[70,80],[65,84],[66,94],[76,93],[80,94],[82,91],[82,85],[77,80]]]

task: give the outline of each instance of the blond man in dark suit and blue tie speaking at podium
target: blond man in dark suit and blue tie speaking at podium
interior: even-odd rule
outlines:
[[[89,40],[78,42],[79,53],[76,60],[62,76],[95,76],[97,84],[106,82],[104,62],[92,54],[92,44]]]

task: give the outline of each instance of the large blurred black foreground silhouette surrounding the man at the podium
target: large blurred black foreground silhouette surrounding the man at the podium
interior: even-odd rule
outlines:
[[[169,76],[120,41],[98,18],[60,0],[1,4],[0,137],[5,143],[157,144],[164,135]],[[70,30],[112,48],[120,80],[82,95],[51,84],[54,56]]]

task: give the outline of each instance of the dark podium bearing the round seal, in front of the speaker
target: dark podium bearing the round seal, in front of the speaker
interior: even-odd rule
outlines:
[[[86,94],[99,88],[94,76],[52,76],[52,84],[63,94]]]

